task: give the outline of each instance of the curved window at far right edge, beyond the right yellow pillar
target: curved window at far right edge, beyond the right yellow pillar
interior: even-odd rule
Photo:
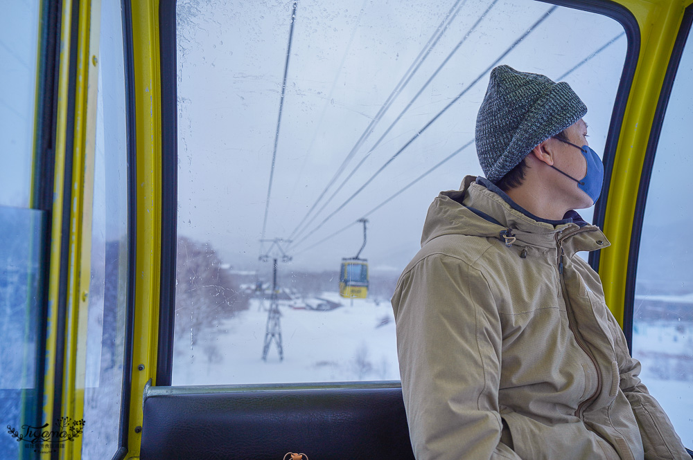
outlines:
[[[633,306],[633,357],[642,379],[693,449],[693,40],[678,66],[645,204]],[[682,231],[683,230],[683,231]]]

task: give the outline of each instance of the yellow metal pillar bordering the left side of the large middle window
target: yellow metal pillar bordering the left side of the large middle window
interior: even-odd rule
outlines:
[[[159,1],[132,2],[134,104],[137,120],[137,260],[128,457],[139,457],[142,395],[156,383],[161,263],[161,79]],[[168,225],[175,225],[169,222]],[[144,369],[140,371],[139,365]]]

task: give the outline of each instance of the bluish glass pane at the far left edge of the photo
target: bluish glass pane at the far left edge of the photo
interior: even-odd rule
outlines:
[[[30,459],[10,431],[39,426],[37,369],[46,212],[32,206],[40,1],[3,2],[0,14],[0,458]]]

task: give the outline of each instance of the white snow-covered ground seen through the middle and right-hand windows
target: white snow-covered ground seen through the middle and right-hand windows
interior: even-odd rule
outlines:
[[[319,295],[331,311],[280,301],[284,359],[272,344],[261,360],[269,301],[198,333],[193,347],[176,342],[173,385],[399,380],[392,307],[387,300]],[[307,300],[315,304],[315,300]],[[642,380],[663,405],[687,447],[693,447],[693,324],[636,322],[633,356]]]

